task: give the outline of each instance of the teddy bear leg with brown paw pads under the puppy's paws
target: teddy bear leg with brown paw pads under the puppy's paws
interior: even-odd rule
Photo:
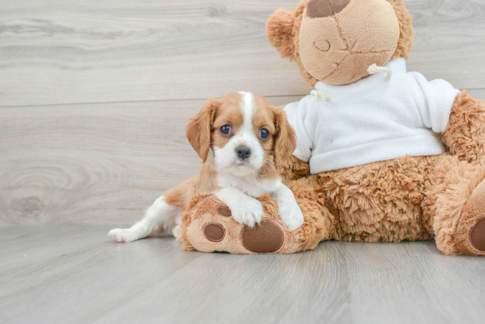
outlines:
[[[330,239],[335,217],[323,206],[324,197],[307,179],[288,184],[303,212],[303,225],[289,231],[278,216],[278,206],[265,194],[261,201],[264,217],[248,228],[231,217],[231,210],[213,195],[195,196],[182,214],[180,237],[184,249],[201,252],[294,253],[315,248]]]

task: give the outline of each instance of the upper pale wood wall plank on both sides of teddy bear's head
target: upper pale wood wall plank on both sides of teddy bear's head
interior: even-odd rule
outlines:
[[[265,21],[297,0],[0,0],[0,106],[301,95]],[[484,89],[485,2],[407,0],[409,68]]]

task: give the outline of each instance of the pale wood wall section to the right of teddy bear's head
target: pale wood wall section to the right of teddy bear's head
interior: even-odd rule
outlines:
[[[485,2],[405,0],[416,39],[408,70],[428,80],[444,79],[457,89],[485,88]]]

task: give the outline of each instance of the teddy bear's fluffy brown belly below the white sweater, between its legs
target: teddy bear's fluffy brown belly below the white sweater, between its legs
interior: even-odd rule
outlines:
[[[366,242],[431,239],[433,228],[422,203],[438,157],[403,157],[311,176],[336,217],[331,237]]]

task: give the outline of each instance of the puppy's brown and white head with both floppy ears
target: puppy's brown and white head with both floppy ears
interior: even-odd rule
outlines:
[[[296,148],[283,109],[247,92],[209,99],[187,127],[187,138],[203,161],[212,149],[215,168],[236,176],[275,171]]]

